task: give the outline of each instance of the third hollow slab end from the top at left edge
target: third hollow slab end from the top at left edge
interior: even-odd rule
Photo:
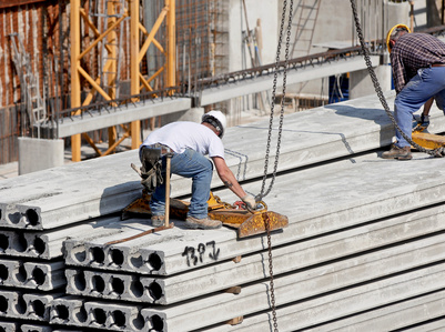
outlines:
[[[4,286],[51,291],[67,284],[64,262],[27,262],[0,259],[0,282]]]

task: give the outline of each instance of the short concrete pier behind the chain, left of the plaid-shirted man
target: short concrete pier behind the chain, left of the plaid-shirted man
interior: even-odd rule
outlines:
[[[382,90],[391,90],[391,66],[378,66],[374,68],[374,71]],[[356,99],[373,93],[375,94],[375,89],[367,69],[350,73],[350,99]]]

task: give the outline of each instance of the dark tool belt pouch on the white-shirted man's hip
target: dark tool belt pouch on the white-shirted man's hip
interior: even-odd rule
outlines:
[[[169,147],[155,143],[143,147],[141,151],[141,184],[152,193],[164,182],[162,177],[162,157],[173,152]]]

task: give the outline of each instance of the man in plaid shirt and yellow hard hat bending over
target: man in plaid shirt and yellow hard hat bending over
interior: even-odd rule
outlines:
[[[425,105],[423,121],[428,122],[433,99],[439,109],[444,109],[445,43],[427,33],[409,33],[404,24],[394,26],[388,31],[386,43],[397,93],[394,102],[395,120],[411,139],[414,112]],[[411,143],[396,130],[396,142],[382,157],[409,160]]]

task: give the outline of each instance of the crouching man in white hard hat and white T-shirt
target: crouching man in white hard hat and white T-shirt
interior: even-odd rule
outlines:
[[[253,195],[246,194],[236,181],[224,160],[222,137],[226,127],[225,115],[221,111],[210,111],[202,117],[201,123],[178,121],[153,131],[140,147],[140,158],[144,165],[144,155],[160,152],[161,170],[165,179],[166,153],[172,152],[171,172],[184,178],[192,178],[192,198],[185,227],[190,229],[218,229],[222,223],[208,218],[208,200],[213,174],[213,164],[222,182],[236,194],[250,209],[256,208]],[[209,154],[212,162],[204,157]],[[155,164],[155,162],[152,162]],[[155,168],[155,167],[154,167]],[[145,170],[149,171],[149,170]],[[160,183],[162,182],[162,183]],[[152,225],[164,224],[165,183],[156,181],[150,201]]]

